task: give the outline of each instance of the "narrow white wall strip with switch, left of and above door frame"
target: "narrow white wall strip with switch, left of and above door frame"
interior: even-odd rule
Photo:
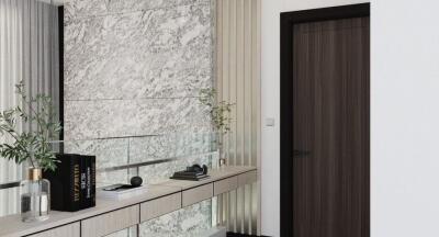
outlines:
[[[262,0],[262,234],[280,236],[280,13],[368,2],[364,0]],[[264,126],[273,117],[275,126]],[[439,202],[439,201],[438,201]]]

